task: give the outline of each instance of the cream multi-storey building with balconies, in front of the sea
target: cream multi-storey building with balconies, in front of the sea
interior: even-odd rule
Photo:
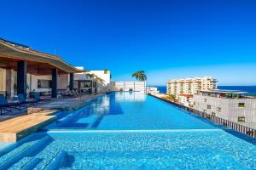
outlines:
[[[180,94],[199,94],[201,90],[217,88],[217,80],[212,77],[195,77],[174,79],[167,82],[167,94],[175,95],[179,99]]]

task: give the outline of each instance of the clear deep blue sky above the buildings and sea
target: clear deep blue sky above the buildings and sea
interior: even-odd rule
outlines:
[[[0,0],[0,37],[60,55],[113,81],[212,76],[256,84],[256,1]]]

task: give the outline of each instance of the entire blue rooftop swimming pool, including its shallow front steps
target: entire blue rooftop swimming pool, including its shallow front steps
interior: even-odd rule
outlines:
[[[256,169],[255,144],[144,94],[106,94],[56,116],[0,150],[0,169]]]

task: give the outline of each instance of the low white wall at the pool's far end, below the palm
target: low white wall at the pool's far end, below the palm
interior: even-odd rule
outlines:
[[[146,93],[146,82],[111,82],[110,89],[111,91],[119,92],[143,92]]]

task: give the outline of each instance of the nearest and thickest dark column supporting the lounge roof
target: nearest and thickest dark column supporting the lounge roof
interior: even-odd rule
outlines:
[[[24,94],[26,98],[26,61],[18,61],[17,70],[17,94]]]

